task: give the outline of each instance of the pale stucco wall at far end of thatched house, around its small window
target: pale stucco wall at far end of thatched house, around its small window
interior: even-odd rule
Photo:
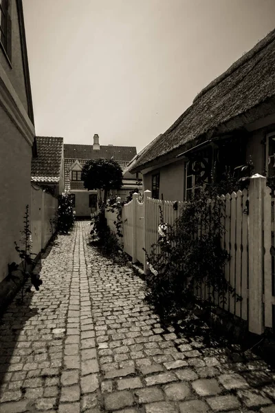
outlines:
[[[152,176],[159,173],[159,198],[167,201],[184,200],[184,162],[179,160],[173,164],[154,169],[143,175],[144,190],[152,191]]]

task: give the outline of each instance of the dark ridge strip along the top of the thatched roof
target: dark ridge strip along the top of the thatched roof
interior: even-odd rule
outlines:
[[[230,76],[233,72],[235,72],[241,65],[252,59],[256,54],[261,52],[265,47],[270,45],[272,41],[275,40],[275,29],[272,30],[271,32],[267,33],[267,35],[261,39],[252,49],[250,49],[248,52],[243,54],[238,60],[236,60],[230,67],[228,67],[228,70],[225,70],[222,74],[220,74],[217,78],[215,78],[212,82],[210,82],[206,87],[204,87],[201,92],[197,94],[195,99],[193,100],[193,103],[197,103],[197,100],[201,98],[206,92],[208,92],[210,89],[213,87],[217,86],[219,83],[224,81],[225,78]]]

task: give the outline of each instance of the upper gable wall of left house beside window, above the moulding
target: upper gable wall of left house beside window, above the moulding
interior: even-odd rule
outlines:
[[[8,63],[2,49],[0,48],[0,64],[10,78],[12,86],[16,90],[25,111],[28,113],[28,100],[25,92],[25,78],[21,52],[21,40],[19,20],[17,15],[17,1],[10,0],[10,17],[12,20],[12,67]]]

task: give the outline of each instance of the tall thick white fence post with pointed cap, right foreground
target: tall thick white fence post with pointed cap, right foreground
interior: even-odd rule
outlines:
[[[250,179],[248,215],[248,329],[263,333],[263,197],[266,178],[256,173]]]

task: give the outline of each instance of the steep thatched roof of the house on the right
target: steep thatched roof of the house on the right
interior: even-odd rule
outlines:
[[[197,145],[230,120],[248,114],[252,108],[260,107],[273,98],[274,67],[275,30],[272,30],[250,52],[205,87],[184,114],[140,156],[131,171],[153,165],[164,156],[173,158],[175,149],[189,149]],[[275,112],[274,101],[269,105],[269,111]],[[260,117],[258,113],[256,118]],[[251,116],[248,121],[252,121]],[[240,127],[240,123],[238,125]],[[234,124],[231,127],[236,129]]]

